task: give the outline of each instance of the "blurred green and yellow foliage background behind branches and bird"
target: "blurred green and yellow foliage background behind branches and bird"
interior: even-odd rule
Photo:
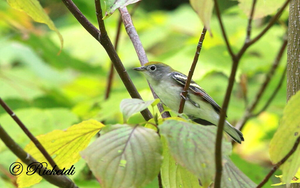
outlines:
[[[41,0],[56,27],[64,38],[64,47],[58,55],[60,42],[55,32],[46,25],[35,23],[25,13],[10,8],[0,0],[0,96],[15,111],[34,135],[54,129],[66,129],[74,123],[90,118],[106,124],[122,123],[119,103],[130,98],[117,74],[112,91],[104,100],[110,59],[103,47],[76,21],[59,0]],[[97,26],[94,1],[73,1],[83,14]],[[101,1],[104,5],[104,2]],[[247,16],[237,1],[220,0],[223,22],[229,41],[237,51],[244,42]],[[133,5],[128,6],[131,9]],[[253,22],[255,36],[271,16]],[[112,41],[116,35],[119,12],[105,20]],[[286,32],[288,10],[272,29],[251,46],[241,59],[227,112],[233,125],[245,110],[243,90],[249,102],[259,89],[282,44]],[[188,0],[143,0],[133,16],[143,46],[150,61],[161,61],[187,74],[195,54],[203,25]],[[122,26],[118,54],[144,100],[152,99],[148,84],[141,74],[132,70],[139,61],[124,27]],[[260,109],[274,92],[286,66],[286,53],[280,62],[265,94],[258,105]],[[211,32],[207,33],[193,80],[219,104],[222,104],[227,87],[231,59],[224,45],[215,14],[211,19]],[[286,81],[267,109],[247,122],[243,129],[245,142],[235,145],[232,160],[255,183],[271,168],[268,146],[286,104]],[[130,122],[141,122],[136,114]],[[0,109],[0,123],[22,146],[29,139],[16,123]],[[16,161],[0,142],[0,185],[15,187],[15,177],[9,166]],[[275,174],[280,175],[280,171]],[[99,187],[85,163],[76,163],[76,173],[71,177],[80,187]],[[279,183],[272,177],[264,187]],[[55,187],[46,181],[32,187]],[[147,187],[157,187],[154,180]]]

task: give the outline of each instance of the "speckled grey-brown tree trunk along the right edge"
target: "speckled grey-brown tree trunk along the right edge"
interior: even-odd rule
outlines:
[[[287,85],[288,101],[300,90],[300,0],[291,0],[289,5],[289,29],[287,43]],[[292,183],[290,188],[300,188],[300,183]]]

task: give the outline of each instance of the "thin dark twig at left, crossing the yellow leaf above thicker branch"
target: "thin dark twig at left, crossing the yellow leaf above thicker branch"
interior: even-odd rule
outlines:
[[[40,150],[42,155],[47,159],[47,161],[50,163],[52,167],[59,168],[52,157],[49,155],[49,153],[46,151],[44,146],[38,141],[37,138],[27,129],[27,127],[24,125],[24,123],[19,119],[19,117],[7,106],[7,104],[1,99],[0,97],[0,105],[4,108],[4,110],[7,112],[7,114],[10,115],[10,117],[13,118],[13,120],[19,125],[19,127],[24,131],[24,133],[28,136],[28,138],[35,144],[35,146]]]

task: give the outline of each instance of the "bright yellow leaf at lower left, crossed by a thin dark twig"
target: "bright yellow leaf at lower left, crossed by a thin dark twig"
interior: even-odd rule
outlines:
[[[80,159],[79,151],[85,149],[91,138],[104,125],[96,120],[87,120],[69,127],[67,130],[54,130],[45,135],[37,136],[38,140],[52,156],[59,168],[69,168]],[[24,150],[30,153],[38,162],[47,162],[35,145],[30,142]],[[20,160],[18,159],[20,162]],[[47,162],[48,163],[48,162]],[[24,166],[26,169],[27,166]],[[48,169],[52,169],[48,163]],[[17,177],[19,187],[28,187],[42,180],[38,174],[21,173]]]

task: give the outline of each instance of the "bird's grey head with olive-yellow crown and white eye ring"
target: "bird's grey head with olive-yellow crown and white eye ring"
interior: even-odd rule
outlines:
[[[169,65],[155,61],[148,62],[141,67],[134,68],[133,70],[142,72],[151,84],[159,82],[164,76],[173,71]]]

